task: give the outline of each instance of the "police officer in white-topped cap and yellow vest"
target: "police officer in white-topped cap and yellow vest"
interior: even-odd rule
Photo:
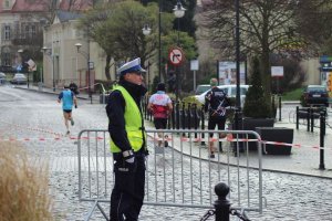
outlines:
[[[141,59],[118,69],[120,81],[106,106],[115,185],[111,196],[111,221],[136,221],[143,206],[146,135],[141,109],[145,95]]]

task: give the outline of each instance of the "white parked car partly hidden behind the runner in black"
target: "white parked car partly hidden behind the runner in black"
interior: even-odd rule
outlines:
[[[224,92],[227,94],[228,97],[236,97],[237,96],[237,85],[236,84],[228,84],[228,85],[219,85],[219,88],[224,90]],[[241,101],[241,106],[245,104],[245,98],[246,94],[248,92],[249,85],[240,85],[240,101]],[[200,102],[201,104],[205,104],[205,95],[209,92],[210,90],[204,92],[200,95],[196,95],[196,99]]]

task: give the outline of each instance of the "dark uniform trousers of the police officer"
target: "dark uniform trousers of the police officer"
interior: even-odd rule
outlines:
[[[114,154],[115,185],[111,194],[111,221],[137,221],[144,200],[145,155],[135,154],[135,166],[128,171],[123,167],[121,154]],[[133,165],[134,165],[133,164]]]

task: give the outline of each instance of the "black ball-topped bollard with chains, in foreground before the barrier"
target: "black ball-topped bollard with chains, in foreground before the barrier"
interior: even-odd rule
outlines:
[[[224,182],[219,182],[215,186],[215,192],[218,196],[218,200],[214,203],[216,221],[229,221],[230,201],[226,198],[229,193],[229,187]]]

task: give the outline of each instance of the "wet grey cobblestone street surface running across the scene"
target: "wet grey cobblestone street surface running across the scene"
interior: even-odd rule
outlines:
[[[97,102],[94,101],[94,103]],[[56,220],[83,220],[92,207],[92,202],[80,202],[77,198],[77,145],[74,139],[64,136],[62,109],[61,105],[56,103],[56,95],[0,86],[0,138],[18,139],[31,154],[32,161],[35,160],[35,164],[39,164],[39,160],[49,162],[50,187],[54,199]],[[77,136],[82,129],[107,128],[107,117],[103,104],[90,104],[90,101],[79,99],[79,108],[73,110],[73,116],[75,125],[71,129],[72,136]],[[59,140],[53,139],[55,136],[59,137]],[[41,140],[41,138],[45,140]],[[152,148],[153,144],[148,144],[148,147]],[[326,155],[331,155],[331,151],[328,151]],[[188,164],[185,161],[184,168],[188,168]],[[274,164],[278,167],[278,164]],[[194,165],[194,168],[198,167],[198,164]],[[190,176],[188,171],[185,175]],[[226,171],[222,176],[226,176]],[[263,171],[262,181],[262,192],[266,198],[264,209],[262,214],[249,212],[250,219],[266,221],[332,220],[332,182],[330,178]],[[110,190],[111,188],[110,183]],[[257,188],[252,189],[252,191],[257,191]],[[211,201],[214,200],[216,198],[211,199]],[[108,203],[102,203],[102,206],[108,214]],[[207,209],[145,204],[141,220],[195,221],[200,220],[206,211]],[[96,211],[92,220],[103,220],[102,214]],[[232,218],[232,220],[236,219]]]

